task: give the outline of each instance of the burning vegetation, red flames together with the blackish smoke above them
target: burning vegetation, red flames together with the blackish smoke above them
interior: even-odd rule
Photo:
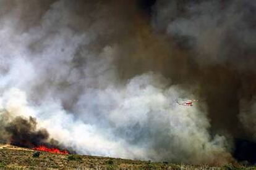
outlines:
[[[2,141],[17,147],[63,155],[69,154],[67,150],[59,149],[58,141],[49,140],[46,129],[37,129],[36,124],[36,119],[31,116],[29,119],[18,116],[5,125],[4,132],[1,133],[6,134],[6,138],[2,136]]]

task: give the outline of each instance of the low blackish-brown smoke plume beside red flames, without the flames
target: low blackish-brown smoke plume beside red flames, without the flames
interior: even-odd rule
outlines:
[[[38,128],[36,118],[16,116],[9,118],[9,113],[3,110],[0,118],[0,142],[19,147],[33,148],[40,145],[55,148],[65,148],[58,140],[49,138],[49,133],[44,128]],[[70,148],[70,151],[72,149]],[[72,151],[74,152],[74,151]],[[74,152],[75,153],[75,152]]]

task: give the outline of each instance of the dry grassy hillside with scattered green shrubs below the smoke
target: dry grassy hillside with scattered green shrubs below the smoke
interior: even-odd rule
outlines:
[[[39,153],[39,154],[38,154]],[[100,156],[61,155],[36,152],[12,145],[0,146],[0,169],[241,169],[243,166],[192,166],[185,164],[152,163]],[[254,168],[246,168],[254,169]]]

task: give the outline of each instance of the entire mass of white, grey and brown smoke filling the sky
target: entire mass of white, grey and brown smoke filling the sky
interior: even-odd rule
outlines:
[[[255,3],[140,3],[0,1],[7,131],[28,128],[30,142],[53,138],[88,155],[233,161],[236,128],[253,117],[240,108],[255,89],[253,10],[244,12]]]

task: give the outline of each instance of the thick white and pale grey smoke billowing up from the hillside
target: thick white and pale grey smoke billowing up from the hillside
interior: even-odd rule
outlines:
[[[110,7],[94,11],[88,2],[82,18],[69,1],[58,1],[39,24],[19,29],[25,23],[15,4],[0,18],[0,106],[12,118],[35,117],[51,137],[81,154],[228,161],[226,139],[208,133],[206,109],[176,104],[192,94],[160,73],[119,79],[115,60],[122,56],[108,37],[121,30],[109,15],[101,17]]]

